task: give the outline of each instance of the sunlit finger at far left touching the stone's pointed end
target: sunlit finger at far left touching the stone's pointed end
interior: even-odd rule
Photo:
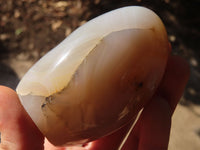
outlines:
[[[1,149],[42,150],[44,138],[23,109],[15,91],[0,86]]]

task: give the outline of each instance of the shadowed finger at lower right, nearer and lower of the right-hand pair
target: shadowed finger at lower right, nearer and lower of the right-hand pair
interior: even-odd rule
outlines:
[[[171,111],[166,100],[153,97],[131,131],[123,150],[167,150]]]

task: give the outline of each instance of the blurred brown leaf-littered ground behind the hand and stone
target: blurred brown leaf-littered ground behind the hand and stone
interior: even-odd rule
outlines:
[[[156,12],[166,26],[172,53],[190,65],[190,80],[172,120],[169,150],[198,150],[200,0],[0,0],[0,84],[15,89],[33,63],[77,27],[130,5]]]

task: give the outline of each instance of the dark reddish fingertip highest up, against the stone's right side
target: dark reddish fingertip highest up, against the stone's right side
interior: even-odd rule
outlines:
[[[169,58],[158,92],[168,101],[172,113],[184,92],[189,74],[189,65],[183,58],[179,56],[171,56]]]

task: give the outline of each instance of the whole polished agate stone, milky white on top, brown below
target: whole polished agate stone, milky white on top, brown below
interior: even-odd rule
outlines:
[[[168,54],[159,17],[124,7],[79,27],[25,74],[16,91],[51,143],[85,143],[137,115],[155,93]]]

